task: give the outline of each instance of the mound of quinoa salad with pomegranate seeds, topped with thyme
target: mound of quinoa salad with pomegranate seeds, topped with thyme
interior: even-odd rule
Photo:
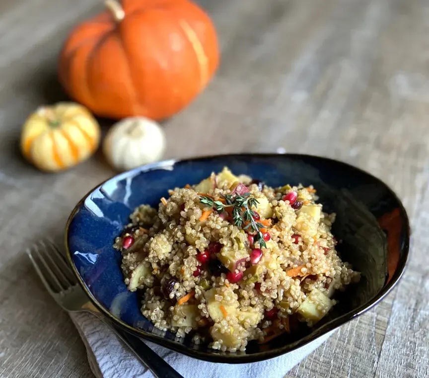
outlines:
[[[316,190],[270,188],[228,168],[195,186],[169,191],[158,210],[131,214],[114,247],[142,313],[177,337],[192,333],[213,349],[244,351],[314,325],[337,289],[359,280],[335,251],[335,214]]]

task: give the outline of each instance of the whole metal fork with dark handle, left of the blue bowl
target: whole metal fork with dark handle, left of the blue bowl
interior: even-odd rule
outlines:
[[[88,300],[65,256],[51,240],[40,240],[27,249],[34,269],[55,301],[68,312],[90,312],[107,324],[136,354],[155,378],[183,378],[143,341],[108,320]]]

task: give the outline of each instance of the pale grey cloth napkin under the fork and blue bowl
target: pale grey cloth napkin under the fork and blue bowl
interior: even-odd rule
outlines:
[[[152,373],[101,320],[89,313],[72,313],[71,319],[85,344],[88,362],[95,377],[153,378]],[[281,378],[323,344],[332,332],[284,356],[239,365],[200,361],[150,342],[146,344],[185,378]]]

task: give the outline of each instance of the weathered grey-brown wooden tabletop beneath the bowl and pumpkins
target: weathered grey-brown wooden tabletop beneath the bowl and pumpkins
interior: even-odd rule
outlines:
[[[428,377],[429,1],[200,3],[217,26],[221,65],[165,123],[165,157],[284,148],[340,159],[395,189],[412,221],[399,286],[286,377]],[[101,8],[97,0],[0,1],[0,377],[91,377],[77,331],[24,251],[40,237],[61,238],[75,202],[114,172],[98,153],[42,174],[17,141],[30,111],[66,98],[58,52],[72,25]]]

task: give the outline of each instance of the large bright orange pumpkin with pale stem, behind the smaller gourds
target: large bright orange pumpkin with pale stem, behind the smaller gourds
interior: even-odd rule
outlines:
[[[66,92],[95,114],[160,120],[184,108],[218,64],[214,25],[189,0],[106,1],[61,52]]]

